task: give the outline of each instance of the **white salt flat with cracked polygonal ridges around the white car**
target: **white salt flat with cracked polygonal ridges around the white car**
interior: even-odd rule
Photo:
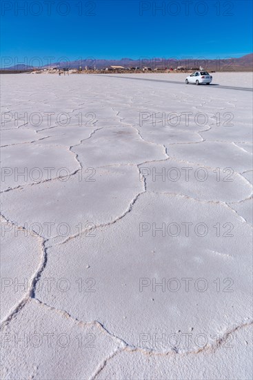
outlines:
[[[252,73],[213,77],[1,76],[2,379],[252,378]]]

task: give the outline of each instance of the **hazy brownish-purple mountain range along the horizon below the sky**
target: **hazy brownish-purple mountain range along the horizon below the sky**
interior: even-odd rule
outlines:
[[[240,58],[228,58],[228,59],[172,59],[172,58],[152,58],[148,59],[142,57],[141,59],[131,59],[131,58],[122,58],[122,59],[83,59],[66,62],[54,62],[50,66],[46,65],[42,68],[48,67],[59,67],[59,68],[79,68],[82,69],[87,66],[88,68],[108,68],[110,66],[123,66],[125,68],[143,68],[150,67],[154,68],[176,68],[178,66],[183,66],[185,68],[199,68],[202,66],[205,69],[212,70],[253,70],[253,53],[244,55]],[[1,70],[10,70],[10,71],[30,71],[37,69],[37,67],[27,66],[25,64],[17,64],[8,68],[1,68]]]

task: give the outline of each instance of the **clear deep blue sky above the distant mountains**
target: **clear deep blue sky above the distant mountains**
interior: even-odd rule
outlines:
[[[1,0],[1,55],[19,57],[19,63],[35,56],[57,61],[248,53],[251,0]]]

